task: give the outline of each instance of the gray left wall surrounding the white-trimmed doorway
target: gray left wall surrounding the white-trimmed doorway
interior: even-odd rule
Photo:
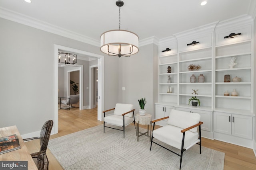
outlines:
[[[0,25],[0,127],[16,125],[21,134],[40,131],[45,121],[54,119],[54,44],[103,53],[99,47],[2,18]],[[117,58],[104,57],[103,109],[118,102],[117,66]]]

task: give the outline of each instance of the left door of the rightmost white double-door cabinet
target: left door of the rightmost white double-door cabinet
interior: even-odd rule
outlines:
[[[214,112],[214,132],[231,135],[231,114]]]

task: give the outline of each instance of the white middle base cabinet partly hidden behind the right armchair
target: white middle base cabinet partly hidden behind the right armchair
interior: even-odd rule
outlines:
[[[182,107],[176,107],[175,109],[200,114],[200,116],[201,116],[200,121],[204,122],[204,124],[201,125],[201,129],[204,130],[204,131],[211,131],[212,130],[212,128],[211,128],[212,112],[211,111],[204,111],[204,110],[197,110],[197,109],[187,109],[187,108],[182,108]]]

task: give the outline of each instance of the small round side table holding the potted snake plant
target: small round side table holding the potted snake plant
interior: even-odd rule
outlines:
[[[135,121],[137,123],[137,129],[136,129],[137,141],[139,141],[139,137],[142,135],[149,137],[149,141],[151,141],[151,124],[152,124],[151,120],[152,120],[152,115],[150,115],[148,113],[146,113],[143,116],[140,115],[140,113],[136,114]],[[148,131],[146,131],[145,133],[139,132],[140,124],[148,125]],[[150,131],[149,131],[149,125],[150,125]],[[148,132],[150,132],[149,135],[148,135]],[[139,133],[140,133],[140,135],[139,135]]]

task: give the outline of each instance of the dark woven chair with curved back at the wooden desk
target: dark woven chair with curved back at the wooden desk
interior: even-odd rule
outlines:
[[[38,167],[38,170],[48,170],[49,161],[46,155],[46,150],[48,146],[48,142],[50,139],[51,131],[52,131],[53,121],[48,120],[44,123],[40,137],[32,137],[28,139],[23,139],[23,141],[30,141],[34,139],[40,139],[40,151],[32,153],[31,156]]]

